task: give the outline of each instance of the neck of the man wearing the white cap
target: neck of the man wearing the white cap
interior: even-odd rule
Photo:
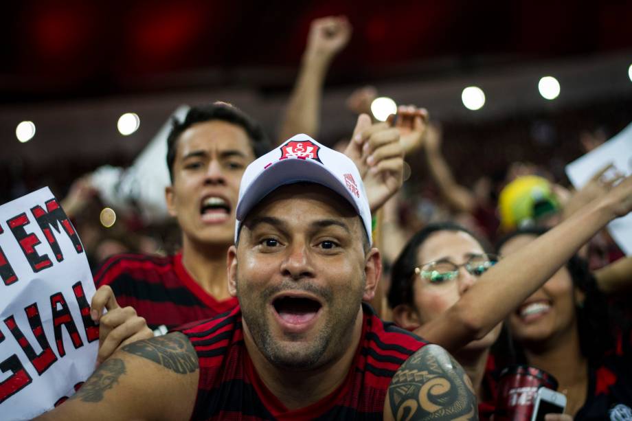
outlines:
[[[362,310],[359,310],[349,343],[334,345],[344,350],[341,356],[334,356],[331,363],[300,372],[272,365],[254,343],[245,323],[244,342],[256,372],[266,387],[287,409],[300,409],[325,398],[347,378],[360,342],[362,320]]]

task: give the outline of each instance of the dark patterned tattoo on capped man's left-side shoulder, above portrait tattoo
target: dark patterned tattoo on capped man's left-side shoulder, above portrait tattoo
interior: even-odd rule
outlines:
[[[125,345],[128,354],[142,356],[177,374],[188,374],[198,368],[197,354],[189,339],[179,332]]]

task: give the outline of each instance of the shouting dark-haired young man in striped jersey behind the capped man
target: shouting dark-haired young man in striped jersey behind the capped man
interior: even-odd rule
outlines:
[[[181,228],[181,250],[115,255],[96,271],[95,284],[110,286],[118,304],[133,307],[156,333],[232,310],[237,300],[226,286],[225,261],[239,183],[268,150],[262,128],[230,104],[194,106],[183,121],[174,120],[166,202]]]

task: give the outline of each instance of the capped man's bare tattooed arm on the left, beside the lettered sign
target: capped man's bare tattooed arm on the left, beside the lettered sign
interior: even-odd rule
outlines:
[[[125,345],[69,400],[37,420],[185,420],[195,404],[196,352],[184,334]]]

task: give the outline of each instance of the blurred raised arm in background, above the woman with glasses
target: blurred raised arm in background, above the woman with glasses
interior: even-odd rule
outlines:
[[[476,198],[469,189],[457,183],[441,153],[442,133],[438,126],[429,126],[424,142],[426,162],[430,175],[448,205],[459,212],[471,213],[476,207]]]

